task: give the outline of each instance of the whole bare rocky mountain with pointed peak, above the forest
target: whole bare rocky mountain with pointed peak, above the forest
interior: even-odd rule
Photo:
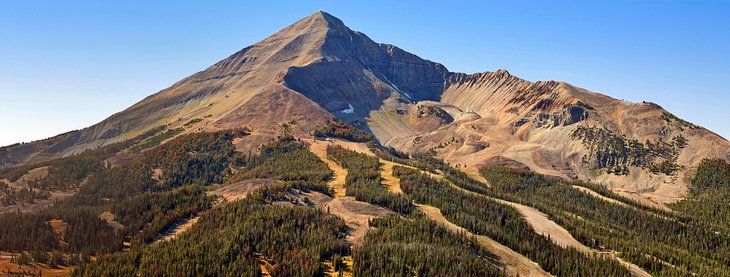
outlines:
[[[255,137],[286,124],[307,136],[331,117],[366,126],[384,145],[435,151],[467,171],[518,164],[657,202],[682,196],[684,173],[702,158],[730,158],[725,139],[655,104],[505,70],[452,73],[316,12],[96,125],[0,148],[0,165],[68,156],[161,126],[249,127]]]

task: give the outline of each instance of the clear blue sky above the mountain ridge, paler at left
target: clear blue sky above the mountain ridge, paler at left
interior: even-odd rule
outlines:
[[[0,1],[0,145],[94,124],[317,10],[452,71],[652,101],[730,138],[727,1],[61,2]]]

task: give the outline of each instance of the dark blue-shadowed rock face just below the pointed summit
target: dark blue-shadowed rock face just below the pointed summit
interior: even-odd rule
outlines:
[[[438,100],[450,74],[444,66],[377,44],[330,15],[322,18],[328,27],[323,58],[290,68],[287,86],[349,121],[362,120],[390,97]]]

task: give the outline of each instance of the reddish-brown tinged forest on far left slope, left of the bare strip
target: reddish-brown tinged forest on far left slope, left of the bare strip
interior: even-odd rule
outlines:
[[[246,134],[231,130],[181,136],[123,166],[112,167],[107,159],[141,139],[36,165],[50,169],[30,188],[75,194],[37,213],[0,214],[0,251],[30,255],[21,260],[43,264],[56,253],[49,264],[56,267],[150,243],[172,225],[212,207],[204,186],[222,181],[241,159],[231,141]],[[4,177],[17,179],[31,168],[6,170]],[[156,170],[161,174],[153,178]],[[112,217],[105,219],[104,213]]]

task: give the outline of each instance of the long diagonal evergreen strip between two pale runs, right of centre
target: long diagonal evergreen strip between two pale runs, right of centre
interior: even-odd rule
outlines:
[[[612,259],[586,255],[575,248],[562,248],[537,234],[514,208],[484,197],[462,192],[446,181],[439,181],[418,170],[394,167],[401,178],[401,189],[417,203],[441,210],[456,225],[525,255],[558,276],[629,276]]]

